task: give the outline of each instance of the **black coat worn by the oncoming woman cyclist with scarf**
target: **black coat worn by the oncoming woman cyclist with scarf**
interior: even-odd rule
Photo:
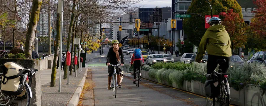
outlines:
[[[121,59],[120,62],[118,62],[118,61],[116,60],[116,53],[113,52],[113,47],[111,47],[111,48],[109,49],[108,54],[107,54],[107,57],[106,57],[106,64],[107,64],[107,63],[113,64],[113,65],[117,65],[117,64],[121,64],[121,63],[124,64],[124,54],[123,54],[123,51],[122,51],[122,49],[121,49],[120,47],[119,47],[119,49],[118,49],[118,53],[119,53],[119,55],[120,55],[120,59]],[[113,70],[113,67],[112,67],[112,66],[108,66],[108,73],[109,73],[111,70]],[[118,67],[116,68],[116,72],[120,72],[120,71],[121,71],[121,67],[118,66]]]

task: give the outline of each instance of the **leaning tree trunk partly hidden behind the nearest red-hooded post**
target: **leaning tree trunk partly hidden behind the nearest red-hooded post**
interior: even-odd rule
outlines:
[[[72,26],[73,26],[73,23],[74,23],[74,10],[75,10],[75,5],[76,5],[75,2],[76,2],[76,0],[73,0],[73,6],[72,6],[72,11],[71,11],[71,19],[70,19],[68,37],[67,37],[67,51],[69,51],[71,31],[72,31]],[[64,79],[67,79],[67,64],[64,65]]]

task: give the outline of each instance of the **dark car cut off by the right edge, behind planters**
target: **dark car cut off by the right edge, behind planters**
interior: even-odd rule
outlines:
[[[253,63],[253,62],[266,64],[266,51],[255,53],[248,61],[248,63]]]

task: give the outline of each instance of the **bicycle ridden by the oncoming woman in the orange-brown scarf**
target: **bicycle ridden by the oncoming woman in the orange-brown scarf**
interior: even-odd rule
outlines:
[[[110,66],[113,66],[113,68],[114,68],[113,77],[112,77],[112,80],[111,80],[111,89],[113,90],[113,96],[116,98],[116,88],[118,87],[117,77],[116,77],[116,67],[117,66],[121,66],[121,65],[119,65],[119,64],[117,64],[117,65],[110,64]],[[121,87],[119,87],[119,88],[121,88]]]

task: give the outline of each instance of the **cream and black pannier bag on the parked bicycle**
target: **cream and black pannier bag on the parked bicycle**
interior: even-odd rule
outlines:
[[[3,76],[1,80],[1,90],[6,95],[20,95],[25,86],[28,73],[23,73],[26,69],[16,62],[6,62],[1,65]]]

